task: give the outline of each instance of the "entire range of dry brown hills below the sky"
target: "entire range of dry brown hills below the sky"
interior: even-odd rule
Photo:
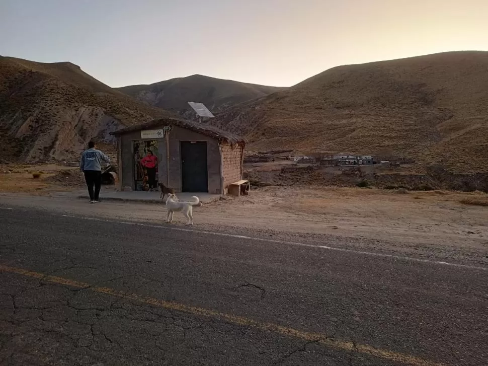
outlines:
[[[150,84],[164,84],[156,92],[166,91],[176,106],[167,111],[110,88],[71,62],[0,56],[0,142],[4,157],[65,160],[89,139],[110,142],[110,132],[121,126],[186,117],[187,101],[214,98],[207,107],[220,105],[222,113],[208,123],[245,136],[248,150],[389,151],[422,166],[484,172],[486,70],[488,52],[459,51],[337,66],[274,92],[196,74]],[[209,80],[219,88],[209,89]],[[237,103],[235,83],[245,101]],[[165,89],[172,85],[177,89]]]

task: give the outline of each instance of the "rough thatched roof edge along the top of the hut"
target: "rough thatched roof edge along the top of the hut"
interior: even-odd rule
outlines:
[[[230,143],[247,143],[246,139],[238,136],[236,134],[221,130],[220,128],[203,124],[203,123],[198,123],[198,122],[192,122],[192,121],[187,121],[184,119],[176,119],[176,118],[157,118],[153,119],[148,122],[144,123],[139,123],[135,124],[133,126],[125,127],[122,129],[119,129],[117,131],[111,132],[110,134],[114,136],[120,136],[125,133],[129,132],[134,132],[134,131],[140,131],[143,129],[147,128],[153,128],[157,126],[177,126],[181,128],[187,128],[189,130],[202,133],[204,135],[213,137],[213,138],[222,138],[227,140]]]

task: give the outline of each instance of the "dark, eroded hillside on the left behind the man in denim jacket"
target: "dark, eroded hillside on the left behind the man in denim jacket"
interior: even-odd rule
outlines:
[[[0,56],[2,160],[65,160],[91,138],[169,115],[120,93],[70,62]]]

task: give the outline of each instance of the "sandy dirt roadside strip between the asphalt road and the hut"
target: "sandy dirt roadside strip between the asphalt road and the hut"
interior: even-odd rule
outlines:
[[[70,212],[93,213],[92,205],[69,193],[84,189],[77,170],[42,169],[45,174],[39,179],[25,171],[32,167],[22,173],[0,174],[0,192],[4,192],[0,202],[35,194],[47,196],[38,201],[41,206],[53,202],[59,206],[63,201],[72,207],[65,208]],[[422,255],[453,250],[457,256],[474,256],[488,264],[487,205],[488,194],[481,192],[399,194],[382,189],[270,186],[251,190],[249,196],[197,207],[194,216],[196,227],[202,229],[282,239],[290,235],[300,240],[327,238],[329,242],[331,238],[355,239],[355,247],[381,250],[388,246],[389,250]],[[97,207],[97,214],[103,217],[158,224],[165,211],[162,204],[106,202]],[[183,225],[183,217],[176,215],[175,219],[176,225]]]

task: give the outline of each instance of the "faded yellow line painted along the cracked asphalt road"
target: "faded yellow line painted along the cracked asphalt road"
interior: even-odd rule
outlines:
[[[239,317],[231,314],[224,314],[213,310],[187,306],[187,305],[169,302],[165,300],[159,300],[156,298],[143,296],[143,295],[130,294],[109,287],[91,286],[89,283],[79,282],[79,281],[75,281],[63,277],[51,276],[39,272],[30,271],[27,269],[15,268],[15,267],[10,267],[10,266],[0,264],[0,271],[17,273],[24,276],[39,278],[44,281],[63,284],[63,285],[76,287],[76,288],[86,288],[87,290],[99,292],[100,294],[116,296],[119,298],[132,300],[147,305],[152,305],[152,306],[165,308],[169,310],[175,310],[178,312],[199,315],[199,316],[209,317],[209,318],[223,319],[232,324],[253,327],[259,330],[273,332],[276,334],[298,338],[305,341],[316,341],[317,343],[322,344],[328,348],[332,348],[340,351],[354,350],[355,352],[358,353],[365,353],[387,361],[400,362],[409,366],[448,366],[445,363],[430,361],[417,356],[394,352],[387,349],[375,348],[367,344],[357,344],[357,343],[354,344],[353,342],[344,341],[340,339],[330,339],[325,334],[303,332],[294,328],[284,327],[273,323],[261,323],[252,319]]]

